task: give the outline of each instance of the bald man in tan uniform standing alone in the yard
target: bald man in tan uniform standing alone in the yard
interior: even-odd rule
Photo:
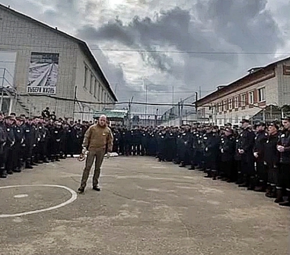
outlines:
[[[83,193],[86,186],[86,181],[89,176],[91,166],[94,162],[94,174],[92,178],[92,189],[100,191],[98,187],[98,178],[100,175],[100,166],[102,164],[103,156],[110,152],[113,146],[113,136],[111,130],[106,125],[106,116],[101,115],[98,122],[91,125],[84,134],[82,143],[82,153],[88,151],[85,167],[83,169],[80,187],[78,193]]]

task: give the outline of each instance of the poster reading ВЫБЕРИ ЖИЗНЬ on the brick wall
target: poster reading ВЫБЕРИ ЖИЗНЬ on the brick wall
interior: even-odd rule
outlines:
[[[28,70],[27,93],[55,94],[57,74],[57,53],[32,52]]]

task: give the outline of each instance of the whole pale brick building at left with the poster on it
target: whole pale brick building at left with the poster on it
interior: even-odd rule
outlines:
[[[4,112],[39,115],[48,106],[60,117],[90,119],[103,106],[87,102],[117,101],[85,42],[2,5],[0,82]]]

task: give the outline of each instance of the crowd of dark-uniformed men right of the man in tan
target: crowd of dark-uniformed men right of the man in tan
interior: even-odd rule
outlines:
[[[280,124],[280,123],[279,123]],[[199,124],[180,127],[111,127],[113,152],[155,156],[159,161],[200,170],[206,178],[265,192],[290,206],[290,117],[253,127],[243,119],[233,128]]]

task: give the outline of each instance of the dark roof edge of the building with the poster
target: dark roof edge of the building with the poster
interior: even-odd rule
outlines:
[[[61,35],[63,37],[66,37],[66,38],[74,41],[75,43],[77,43],[79,48],[81,49],[81,51],[84,53],[84,55],[90,61],[90,64],[93,66],[95,71],[99,74],[101,81],[103,82],[103,84],[105,85],[106,89],[108,90],[108,92],[112,96],[113,100],[115,102],[118,101],[116,96],[115,96],[115,94],[114,94],[114,92],[112,91],[112,89],[111,89],[111,87],[110,87],[110,85],[109,85],[104,73],[102,72],[99,64],[97,63],[95,57],[93,56],[93,54],[91,53],[91,51],[89,50],[87,44],[84,41],[81,41],[81,40],[79,40],[79,39],[77,39],[77,38],[75,38],[73,36],[70,36],[70,35],[68,35],[68,34],[66,34],[64,32],[61,32],[61,31],[59,31],[59,30],[57,30],[55,28],[52,28],[52,27],[50,27],[50,26],[48,26],[48,25],[46,25],[46,24],[44,24],[44,23],[42,23],[40,21],[37,21],[37,20],[27,16],[27,15],[24,15],[24,14],[21,14],[19,12],[16,12],[16,11],[10,9],[9,7],[5,7],[5,6],[1,5],[1,4],[0,4],[0,9],[3,9],[4,11],[11,13],[12,15],[18,16],[19,18],[25,19],[25,20],[27,20],[29,22],[36,23],[38,26],[41,26],[41,27],[43,27],[45,29],[49,29],[50,31],[53,31],[56,34]]]

